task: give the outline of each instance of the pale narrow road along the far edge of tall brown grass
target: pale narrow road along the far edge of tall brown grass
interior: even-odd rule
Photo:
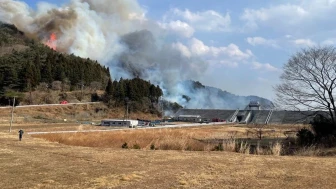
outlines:
[[[125,131],[125,130],[146,130],[146,129],[167,129],[167,128],[183,128],[183,127],[200,127],[200,126],[213,126],[213,125],[226,125],[231,124],[227,122],[212,122],[212,123],[188,123],[188,124],[178,124],[178,125],[162,125],[162,126],[155,126],[155,127],[137,127],[137,128],[113,128],[113,127],[106,127],[104,128],[111,128],[109,130],[83,130],[83,131],[48,131],[48,132],[28,132],[29,135],[38,135],[38,134],[61,134],[61,133],[89,133],[89,132],[115,132],[115,131]]]

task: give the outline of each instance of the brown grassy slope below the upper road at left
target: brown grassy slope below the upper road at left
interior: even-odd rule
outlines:
[[[0,124],[10,122],[11,108],[0,109]],[[27,107],[15,108],[14,125],[30,122],[58,123],[67,119],[70,122],[76,121],[100,121],[106,118],[123,118],[123,108],[109,109],[104,104],[90,105],[62,105],[50,107]],[[131,119],[157,119],[155,115],[142,112],[131,112]]]

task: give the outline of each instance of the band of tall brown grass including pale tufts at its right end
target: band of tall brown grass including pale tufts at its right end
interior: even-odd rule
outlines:
[[[72,146],[134,148],[156,150],[191,150],[191,151],[228,151],[249,154],[250,144],[232,137],[245,136],[246,128],[228,126],[205,126],[195,128],[124,130],[114,132],[43,134],[34,137],[51,142]],[[216,142],[219,140],[219,142]],[[127,147],[126,147],[127,144]],[[221,146],[218,146],[221,145]],[[277,142],[270,148],[259,144],[252,152],[256,155],[280,155],[281,144]]]

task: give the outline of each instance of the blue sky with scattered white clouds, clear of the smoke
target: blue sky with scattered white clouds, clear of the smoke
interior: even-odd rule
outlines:
[[[25,2],[31,7],[37,3]],[[198,78],[201,83],[236,95],[274,100],[273,87],[293,54],[336,44],[336,0],[138,0],[138,4],[146,19],[170,31],[167,40],[181,52],[209,63]]]

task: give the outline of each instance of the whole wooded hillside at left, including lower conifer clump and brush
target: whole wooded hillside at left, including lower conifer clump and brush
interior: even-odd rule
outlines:
[[[21,105],[103,101],[109,107],[128,103],[131,111],[158,114],[163,92],[148,81],[112,81],[108,67],[56,52],[10,24],[0,23],[0,47],[0,105],[10,105],[17,96]]]

